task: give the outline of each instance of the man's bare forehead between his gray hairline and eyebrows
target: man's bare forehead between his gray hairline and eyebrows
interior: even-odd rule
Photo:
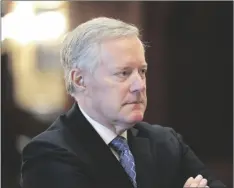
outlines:
[[[108,66],[146,65],[143,44],[136,36],[104,41],[101,49],[102,62]]]

